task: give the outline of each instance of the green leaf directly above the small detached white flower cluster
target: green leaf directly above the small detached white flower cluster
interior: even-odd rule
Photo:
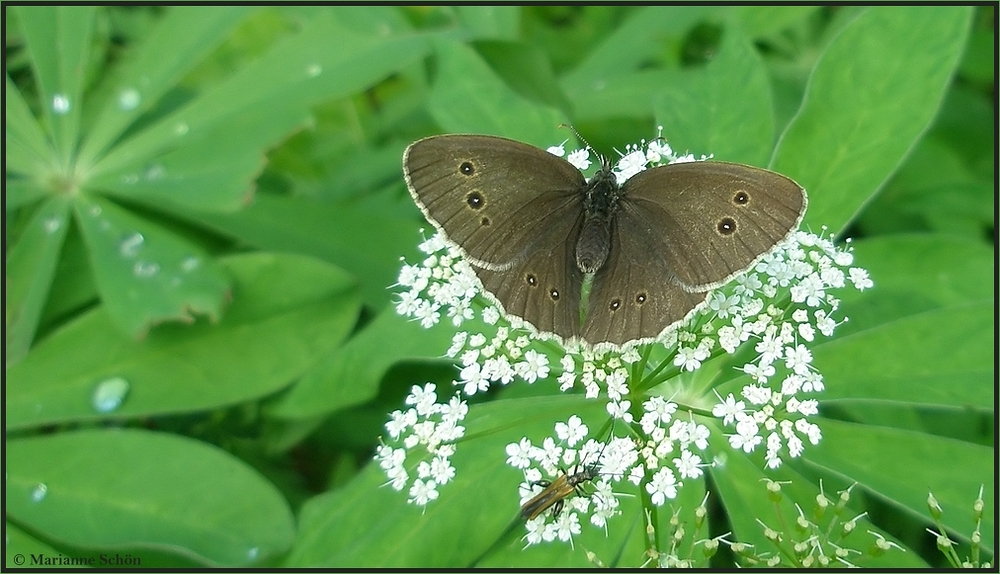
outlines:
[[[268,405],[267,413],[310,418],[365,402],[378,394],[389,367],[404,359],[442,357],[454,333],[448,321],[424,329],[391,307],[383,309],[363,331]]]

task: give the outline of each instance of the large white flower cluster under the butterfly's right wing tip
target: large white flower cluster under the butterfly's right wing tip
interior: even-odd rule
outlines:
[[[864,269],[848,269],[852,262],[851,252],[831,240],[797,231],[734,283],[709,296],[702,320],[692,322],[701,323],[700,329],[678,332],[674,364],[689,371],[716,344],[732,354],[742,343],[755,341],[758,354],[742,367],[751,378],[740,391],[743,400],[730,394],[712,414],[735,426],[729,436],[733,448],[749,453],[764,443],[769,468],[781,465],[783,450],[793,458],[801,455],[803,439],[813,445],[820,441],[820,429],[808,417],[818,412],[818,401],[811,397],[823,390],[823,377],[813,368],[804,342],[813,341],[817,331],[830,337],[838,325],[832,316],[840,300],[828,291],[848,281],[858,290],[872,286]],[[783,303],[784,298],[790,303]]]

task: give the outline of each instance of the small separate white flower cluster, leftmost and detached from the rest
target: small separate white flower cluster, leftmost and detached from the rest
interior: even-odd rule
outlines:
[[[434,383],[423,388],[414,385],[406,404],[410,408],[394,411],[386,423],[390,444],[380,445],[375,459],[389,477],[388,484],[403,490],[410,484],[407,458],[416,450],[417,476],[407,501],[425,506],[438,497],[437,487],[455,477],[450,458],[455,453],[454,442],[465,435],[465,427],[458,423],[469,413],[469,406],[457,395],[447,403],[438,403]]]

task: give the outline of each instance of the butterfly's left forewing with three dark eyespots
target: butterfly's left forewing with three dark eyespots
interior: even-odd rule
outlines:
[[[554,222],[580,212],[580,172],[533,146],[491,136],[449,135],[413,143],[403,171],[428,219],[472,263],[509,269],[537,249]]]

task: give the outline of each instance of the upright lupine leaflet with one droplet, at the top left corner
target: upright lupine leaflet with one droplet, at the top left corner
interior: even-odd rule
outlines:
[[[43,118],[59,164],[68,168],[80,136],[87,59],[93,52],[94,6],[20,6],[18,21],[34,65]]]

